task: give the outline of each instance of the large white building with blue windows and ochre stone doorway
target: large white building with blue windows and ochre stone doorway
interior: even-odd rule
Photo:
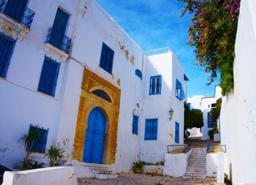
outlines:
[[[78,177],[89,163],[159,162],[183,143],[183,67],[169,48],[145,53],[97,1],[9,0],[0,29],[1,165],[23,160],[33,125],[32,156],[59,144]]]

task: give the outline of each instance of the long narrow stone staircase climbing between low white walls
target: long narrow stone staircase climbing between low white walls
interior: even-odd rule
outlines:
[[[206,178],[206,148],[192,148],[186,177]]]

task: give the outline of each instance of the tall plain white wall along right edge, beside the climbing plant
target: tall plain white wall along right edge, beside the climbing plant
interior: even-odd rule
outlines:
[[[255,48],[256,1],[241,1],[233,66],[234,89],[222,99],[221,142],[227,146],[225,173],[234,185],[256,184]]]

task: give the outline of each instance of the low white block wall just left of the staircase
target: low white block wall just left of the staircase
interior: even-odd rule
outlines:
[[[186,174],[187,163],[192,150],[187,154],[165,154],[163,175],[183,177]]]

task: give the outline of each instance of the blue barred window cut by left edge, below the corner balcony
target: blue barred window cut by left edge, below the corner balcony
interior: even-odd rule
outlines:
[[[16,41],[0,33],[0,77],[6,78]]]

